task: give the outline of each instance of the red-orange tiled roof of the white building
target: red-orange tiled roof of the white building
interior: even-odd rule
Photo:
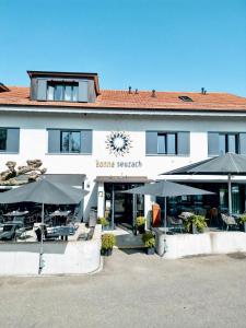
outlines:
[[[128,91],[101,90],[95,103],[68,103],[31,101],[30,87],[9,86],[9,92],[0,93],[0,106],[246,112],[246,98],[229,93],[203,95],[195,92],[156,92],[153,97],[151,91],[129,94]],[[191,97],[194,102],[183,102],[178,98],[181,95]]]

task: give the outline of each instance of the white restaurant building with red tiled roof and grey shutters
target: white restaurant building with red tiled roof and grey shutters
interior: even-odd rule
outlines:
[[[220,153],[246,154],[244,97],[203,89],[99,90],[96,73],[27,73],[31,87],[0,84],[0,171],[10,160],[40,159],[51,175],[73,180],[77,175],[78,185],[90,190],[82,206],[85,221],[97,208],[112,224],[131,226],[136,215],[150,215],[153,199],[119,191]],[[174,179],[215,190],[216,197],[169,199],[169,208],[226,209],[224,177]],[[245,179],[234,178],[234,212],[245,210]]]

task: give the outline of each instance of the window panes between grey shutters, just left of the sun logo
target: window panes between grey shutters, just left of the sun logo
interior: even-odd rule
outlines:
[[[80,131],[61,131],[60,132],[60,151],[65,153],[80,153],[81,151],[81,132]]]

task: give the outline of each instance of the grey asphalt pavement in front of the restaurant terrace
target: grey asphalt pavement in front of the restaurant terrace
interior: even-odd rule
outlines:
[[[0,278],[0,327],[246,327],[246,255],[114,249],[91,276]]]

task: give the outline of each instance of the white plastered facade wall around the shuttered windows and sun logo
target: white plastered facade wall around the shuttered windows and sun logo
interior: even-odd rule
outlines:
[[[51,107],[45,109],[39,107],[33,109],[2,107],[0,127],[20,128],[20,152],[17,154],[1,153],[0,171],[5,169],[7,161],[15,161],[17,165],[24,165],[26,160],[40,159],[49,174],[85,174],[84,187],[90,190],[84,201],[85,220],[92,206],[98,206],[99,216],[104,214],[104,186],[103,184],[97,186],[96,177],[144,176],[149,179],[161,178],[160,174],[164,172],[207,159],[208,131],[246,132],[244,114],[183,113],[180,115],[168,112],[144,114],[137,110],[107,112],[99,109],[79,112],[79,109],[66,110],[62,108],[57,110]],[[94,114],[90,114],[90,112],[94,112]],[[51,128],[91,129],[93,131],[92,154],[48,154],[47,129]],[[189,131],[190,155],[147,155],[147,130]],[[124,156],[109,153],[106,148],[106,140],[112,131],[125,131],[129,134],[131,140],[129,153]],[[124,164],[118,164],[119,162],[124,162]],[[133,164],[134,167],[125,166],[129,165],[125,164],[129,162],[131,162],[131,166],[132,162],[136,163]],[[206,178],[210,179],[211,177]],[[145,214],[150,208],[151,199],[145,197]]]

